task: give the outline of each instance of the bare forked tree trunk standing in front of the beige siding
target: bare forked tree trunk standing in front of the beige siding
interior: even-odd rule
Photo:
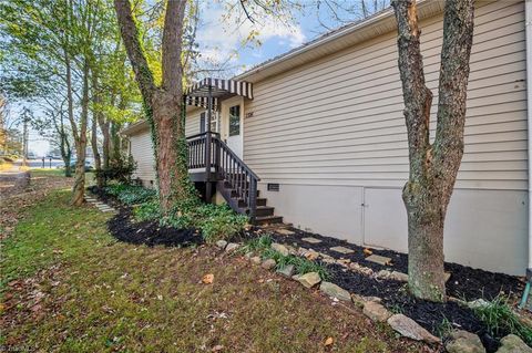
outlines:
[[[429,131],[432,93],[424,83],[416,1],[395,0],[392,6],[410,160],[409,180],[402,190],[408,212],[409,287],[418,298],[443,301],[443,224],[463,155],[473,0],[446,1],[433,143]]]

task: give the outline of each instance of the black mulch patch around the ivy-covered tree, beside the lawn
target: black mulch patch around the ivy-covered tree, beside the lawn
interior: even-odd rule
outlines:
[[[203,237],[196,229],[177,229],[162,227],[158,221],[133,221],[130,207],[122,205],[116,198],[96,187],[90,188],[99,199],[119,210],[119,214],[108,221],[111,235],[120,241],[166,247],[187,247],[203,243]]]

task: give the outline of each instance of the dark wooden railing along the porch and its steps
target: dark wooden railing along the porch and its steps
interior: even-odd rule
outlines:
[[[236,199],[236,206],[231,206],[236,211],[246,212],[252,221],[255,220],[257,183],[260,178],[219,138],[217,133],[207,132],[188,136],[187,145],[188,168],[205,168],[206,180],[211,180],[214,173],[231,190],[226,198]],[[243,201],[245,207],[238,207],[238,201]]]

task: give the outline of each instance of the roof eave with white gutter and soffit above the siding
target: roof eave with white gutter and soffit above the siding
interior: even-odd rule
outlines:
[[[493,0],[484,0],[493,1]],[[444,0],[420,0],[418,17],[420,20],[443,11]],[[329,31],[284,54],[267,60],[232,80],[256,83],[273,75],[306,64],[325,55],[338,52],[357,43],[370,40],[397,29],[393,10],[388,8],[360,21],[356,21]],[[187,110],[188,111],[188,110]],[[135,134],[147,127],[144,121],[130,125],[122,131],[125,135]]]

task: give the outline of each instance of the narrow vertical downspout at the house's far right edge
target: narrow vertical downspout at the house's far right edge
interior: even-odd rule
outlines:
[[[524,2],[524,31],[526,37],[526,131],[529,167],[529,263],[526,268],[526,287],[519,308],[524,308],[532,282],[532,0]]]

